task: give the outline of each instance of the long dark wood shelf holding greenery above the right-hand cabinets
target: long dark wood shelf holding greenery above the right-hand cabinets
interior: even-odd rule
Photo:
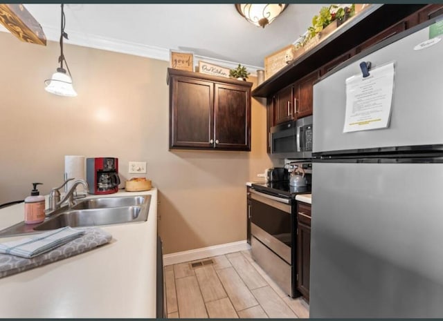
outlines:
[[[377,35],[426,4],[372,4],[352,20],[347,21],[311,50],[266,79],[253,92],[253,97],[269,97],[289,86],[336,57]]]

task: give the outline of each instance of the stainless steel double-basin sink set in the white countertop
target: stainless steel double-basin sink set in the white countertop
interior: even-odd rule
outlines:
[[[147,220],[151,195],[102,197],[81,200],[71,208],[65,206],[38,224],[20,222],[0,231],[0,237],[41,233],[64,226],[103,226]]]

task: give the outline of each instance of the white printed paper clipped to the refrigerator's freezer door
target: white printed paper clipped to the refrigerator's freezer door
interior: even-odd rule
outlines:
[[[343,133],[388,127],[393,88],[393,62],[347,78]]]

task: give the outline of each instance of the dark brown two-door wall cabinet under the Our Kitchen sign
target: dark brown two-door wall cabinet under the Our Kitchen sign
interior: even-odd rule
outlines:
[[[251,150],[252,83],[168,68],[170,148]]]

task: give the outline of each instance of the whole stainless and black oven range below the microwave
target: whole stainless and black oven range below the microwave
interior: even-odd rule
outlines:
[[[310,182],[310,179],[309,179]],[[293,187],[289,181],[252,184],[248,195],[253,259],[280,288],[296,298],[296,200],[311,186]]]

